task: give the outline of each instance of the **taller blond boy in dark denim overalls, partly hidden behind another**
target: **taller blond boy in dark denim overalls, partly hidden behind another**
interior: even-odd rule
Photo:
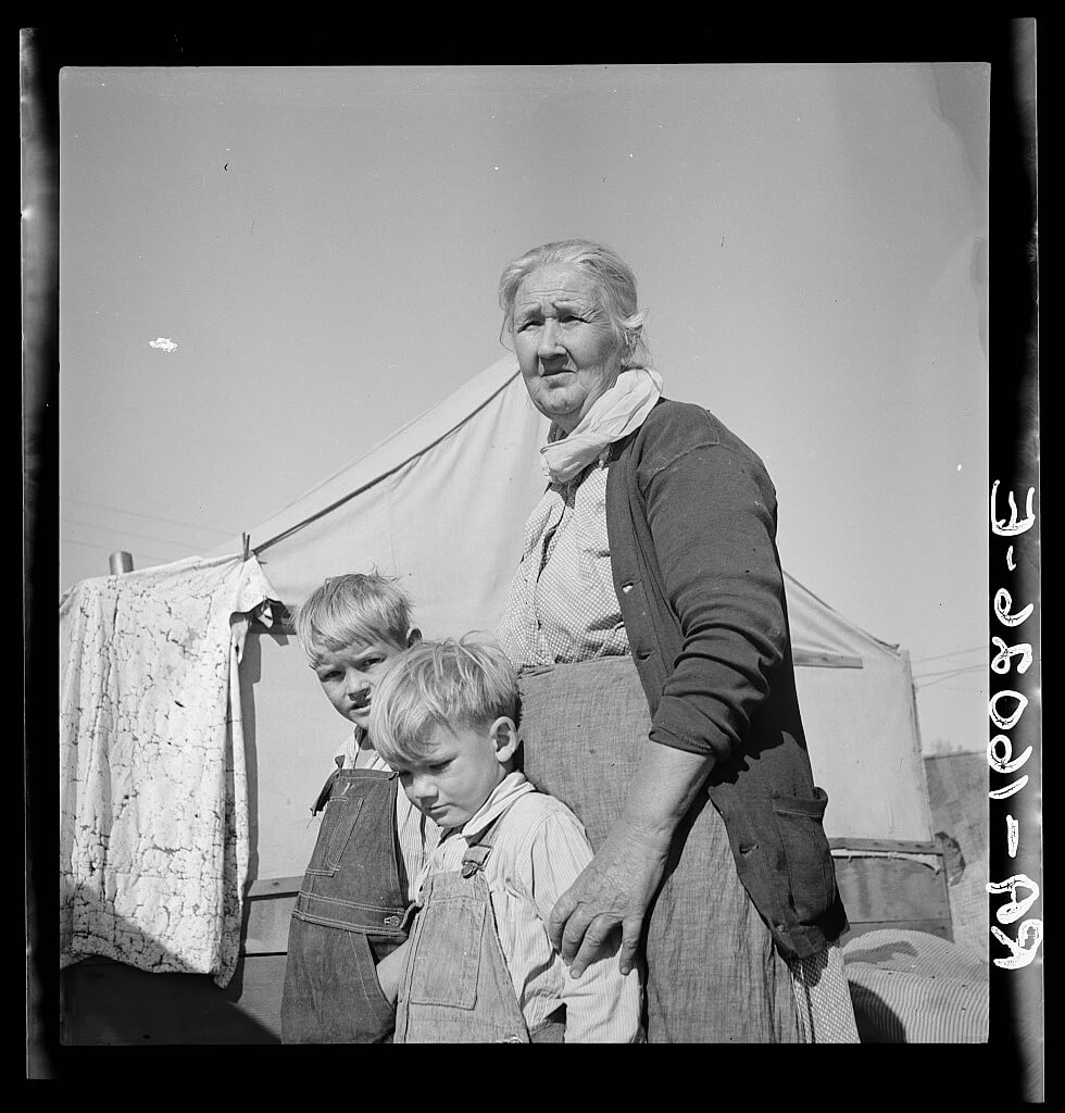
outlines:
[[[367,728],[376,683],[421,640],[411,604],[382,575],[326,580],[293,615],[323,691],[354,725],[312,806],[325,814],[288,934],[283,1043],[387,1043],[394,1005],[375,966],[405,938],[411,880],[438,830],[398,791]]]

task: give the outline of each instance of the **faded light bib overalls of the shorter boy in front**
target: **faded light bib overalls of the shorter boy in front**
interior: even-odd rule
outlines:
[[[425,879],[400,989],[396,1043],[564,1042],[561,1009],[530,1034],[506,969],[482,873],[497,824],[467,848],[461,870]]]

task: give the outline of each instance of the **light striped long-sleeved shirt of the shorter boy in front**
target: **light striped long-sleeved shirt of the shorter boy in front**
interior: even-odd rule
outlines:
[[[617,946],[572,978],[548,937],[551,909],[592,859],[584,828],[564,804],[535,791],[524,775],[507,775],[463,828],[444,833],[422,879],[460,869],[470,840],[499,816],[484,879],[525,1023],[532,1030],[564,1005],[565,1043],[638,1042],[640,981],[635,973],[622,977]]]

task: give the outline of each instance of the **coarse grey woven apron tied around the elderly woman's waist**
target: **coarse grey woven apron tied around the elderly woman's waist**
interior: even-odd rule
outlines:
[[[624,656],[544,666],[519,686],[525,776],[576,812],[599,850],[654,745],[635,664]],[[706,792],[678,827],[643,944],[648,1043],[801,1042],[791,972]]]

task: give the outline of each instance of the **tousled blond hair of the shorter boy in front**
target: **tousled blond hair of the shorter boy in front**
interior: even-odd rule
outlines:
[[[494,641],[474,634],[397,653],[374,691],[369,735],[392,764],[416,762],[440,727],[481,728],[517,719],[517,673]]]

